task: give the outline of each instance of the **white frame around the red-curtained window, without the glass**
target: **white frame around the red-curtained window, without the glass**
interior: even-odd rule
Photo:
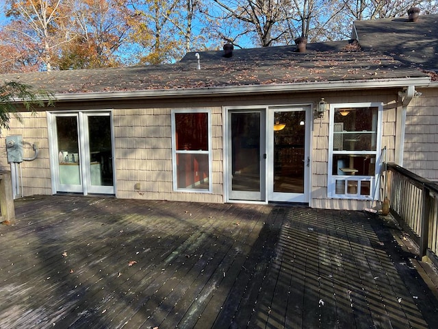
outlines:
[[[187,151],[187,150],[177,150],[177,136],[176,136],[176,122],[175,114],[181,113],[207,113],[207,151]],[[208,109],[179,109],[171,110],[171,126],[172,126],[172,186],[174,192],[185,192],[185,193],[212,193],[212,163],[211,163],[211,110]],[[177,154],[208,154],[208,189],[198,189],[198,188],[179,188],[178,178],[177,178]]]

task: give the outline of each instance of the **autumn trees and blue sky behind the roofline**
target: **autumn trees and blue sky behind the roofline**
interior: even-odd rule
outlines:
[[[355,20],[435,1],[3,0],[0,73],[175,62],[188,51],[350,38]]]

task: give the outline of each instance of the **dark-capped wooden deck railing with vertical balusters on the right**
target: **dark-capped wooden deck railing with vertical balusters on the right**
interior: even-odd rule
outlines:
[[[387,164],[391,214],[419,247],[438,266],[438,184],[397,164]]]

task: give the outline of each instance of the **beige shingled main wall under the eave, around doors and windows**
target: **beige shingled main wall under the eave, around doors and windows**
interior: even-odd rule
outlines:
[[[224,197],[223,108],[248,105],[311,105],[324,97],[329,103],[383,103],[382,147],[386,146],[388,161],[394,161],[396,145],[396,111],[400,101],[398,90],[294,93],[211,97],[204,99],[168,99],[151,101],[107,101],[56,104],[53,111],[112,109],[116,197],[127,199],[167,199],[187,202],[222,203]],[[172,110],[209,110],[211,112],[211,193],[175,192],[172,187]],[[44,111],[46,109],[43,109]],[[15,119],[11,130],[0,135],[0,169],[8,170],[5,136],[23,134],[24,141],[38,143],[40,155],[33,162],[23,162],[25,195],[51,194],[51,171],[46,113],[36,117],[23,113],[23,125]],[[313,119],[311,132],[311,202],[313,208],[363,210],[370,202],[327,197],[329,161],[329,113]],[[29,155],[27,155],[29,156]],[[139,183],[140,189],[136,189]]]

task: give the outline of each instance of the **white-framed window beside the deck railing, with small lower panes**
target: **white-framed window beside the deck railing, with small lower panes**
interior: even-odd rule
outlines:
[[[382,110],[382,103],[331,104],[328,197],[374,196],[381,160]]]

